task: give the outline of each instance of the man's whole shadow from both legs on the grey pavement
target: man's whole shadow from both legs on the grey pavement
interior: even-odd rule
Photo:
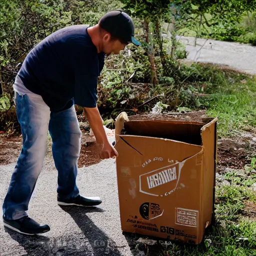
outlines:
[[[110,239],[100,228],[98,228],[86,215],[89,212],[103,212],[101,208],[97,207],[79,207],[79,206],[60,206],[73,218],[77,226],[83,232],[86,243],[89,243],[89,248],[86,243],[77,239],[59,240],[59,237],[53,239],[38,235],[24,235],[14,232],[5,227],[5,231],[9,233],[13,240],[16,240],[27,252],[27,255],[33,256],[49,256],[49,255],[121,255],[117,249],[115,242]],[[46,234],[46,233],[45,233]],[[72,239],[70,241],[70,238]],[[92,250],[92,251],[91,251]]]

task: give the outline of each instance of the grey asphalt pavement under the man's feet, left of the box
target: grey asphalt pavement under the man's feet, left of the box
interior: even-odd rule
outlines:
[[[0,204],[7,191],[14,163],[0,166]],[[0,256],[3,255],[134,255],[120,227],[116,170],[113,159],[79,168],[81,195],[100,196],[97,207],[63,206],[56,203],[57,171],[47,156],[32,195],[28,214],[51,230],[26,236],[0,223]],[[2,216],[2,212],[1,216]],[[1,218],[0,218],[1,219]]]

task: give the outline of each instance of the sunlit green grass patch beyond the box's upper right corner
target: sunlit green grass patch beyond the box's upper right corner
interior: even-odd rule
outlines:
[[[209,99],[207,114],[218,116],[220,136],[256,127],[256,77],[227,84]]]

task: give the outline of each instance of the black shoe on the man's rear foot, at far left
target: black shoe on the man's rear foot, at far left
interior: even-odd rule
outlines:
[[[3,225],[21,234],[39,234],[45,233],[50,230],[46,224],[39,224],[28,216],[24,216],[15,220],[3,219]]]

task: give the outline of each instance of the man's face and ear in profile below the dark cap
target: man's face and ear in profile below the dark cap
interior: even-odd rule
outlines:
[[[119,54],[119,52],[123,50],[126,45],[127,43],[123,43],[118,39],[112,39],[111,35],[106,33],[101,41],[101,50],[106,55],[109,55],[111,53]]]

